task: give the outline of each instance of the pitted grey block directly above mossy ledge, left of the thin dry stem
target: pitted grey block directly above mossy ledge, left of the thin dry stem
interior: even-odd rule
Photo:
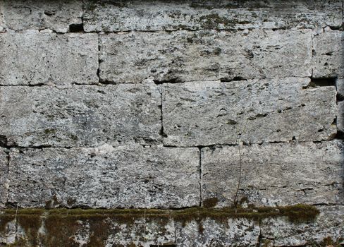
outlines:
[[[197,148],[12,149],[19,207],[174,208],[199,204]]]

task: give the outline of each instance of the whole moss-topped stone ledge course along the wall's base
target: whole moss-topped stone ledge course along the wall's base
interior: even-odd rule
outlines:
[[[17,215],[13,209],[0,211],[0,243],[20,247],[253,247],[272,246],[271,243],[275,246],[309,243],[310,246],[324,239],[343,241],[340,239],[344,233],[343,222],[343,206],[318,209],[307,205],[185,210],[23,209],[18,210]],[[274,224],[281,228],[276,229]],[[305,238],[297,240],[300,236]]]

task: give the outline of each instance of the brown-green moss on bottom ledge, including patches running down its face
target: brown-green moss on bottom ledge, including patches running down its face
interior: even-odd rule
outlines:
[[[87,224],[90,239],[87,246],[104,246],[109,231],[116,224],[133,226],[137,220],[146,219],[162,228],[170,220],[185,225],[192,220],[199,223],[202,231],[204,219],[214,219],[226,224],[230,218],[264,219],[267,217],[288,217],[291,222],[312,222],[319,211],[311,205],[292,205],[285,207],[249,207],[249,208],[206,208],[190,207],[181,210],[157,209],[6,209],[0,210],[0,234],[6,231],[8,222],[16,220],[25,230],[25,241],[29,246],[44,243],[44,246],[78,246],[73,239],[83,225]],[[44,226],[44,233],[39,228]],[[20,241],[23,241],[20,240]],[[25,246],[25,245],[24,245]]]

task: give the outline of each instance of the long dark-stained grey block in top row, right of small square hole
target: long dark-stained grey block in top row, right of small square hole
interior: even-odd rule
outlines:
[[[336,1],[86,1],[87,32],[339,27]]]

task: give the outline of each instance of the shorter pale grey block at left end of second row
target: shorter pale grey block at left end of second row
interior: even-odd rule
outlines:
[[[96,34],[6,32],[0,57],[0,85],[98,83]]]

